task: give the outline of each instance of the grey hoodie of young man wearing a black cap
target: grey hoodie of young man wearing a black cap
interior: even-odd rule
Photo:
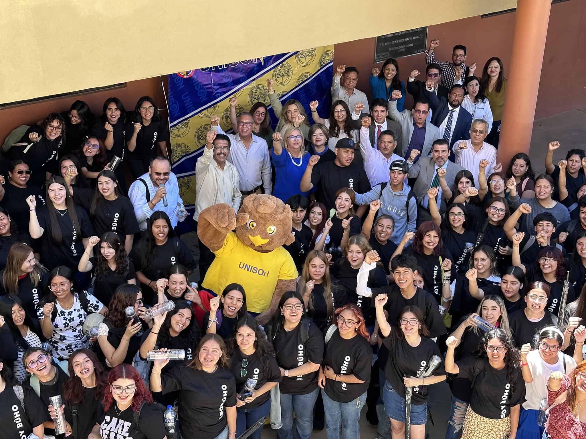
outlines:
[[[380,190],[381,184],[376,184],[370,191],[364,194],[356,194],[356,204],[370,204],[371,201],[380,200],[381,215],[390,215],[395,220],[395,227],[391,241],[398,245],[406,231],[414,232],[417,229],[417,197],[411,194],[409,205],[407,206],[407,195],[411,187],[403,182],[403,190],[394,192],[391,183]],[[409,211],[409,221],[407,222],[407,210]]]

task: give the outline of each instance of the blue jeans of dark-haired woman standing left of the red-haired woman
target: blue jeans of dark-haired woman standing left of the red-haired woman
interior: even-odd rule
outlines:
[[[293,439],[293,412],[295,411],[295,430],[297,439],[309,439],[314,430],[314,405],[318,399],[319,387],[305,395],[281,393],[281,422],[277,430],[278,439]]]

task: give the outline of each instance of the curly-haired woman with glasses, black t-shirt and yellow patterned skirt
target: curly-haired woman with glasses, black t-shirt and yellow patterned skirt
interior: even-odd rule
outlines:
[[[519,349],[506,331],[497,328],[486,332],[476,355],[455,362],[457,343],[454,336],[446,340],[445,370],[472,381],[462,439],[515,437],[520,406],[525,400]]]

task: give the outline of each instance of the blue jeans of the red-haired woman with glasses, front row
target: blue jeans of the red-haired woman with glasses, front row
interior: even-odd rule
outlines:
[[[344,427],[344,437],[360,439],[360,411],[366,401],[366,392],[358,398],[348,403],[340,403],[330,399],[326,392],[322,390],[323,411],[326,418],[326,435],[328,439],[342,439],[342,429]]]

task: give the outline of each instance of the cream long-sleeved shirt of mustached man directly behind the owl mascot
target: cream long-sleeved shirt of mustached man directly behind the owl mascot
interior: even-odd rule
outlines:
[[[226,203],[234,210],[240,207],[242,194],[236,166],[226,160],[222,169],[213,155],[213,148],[203,148],[203,155],[195,164],[195,221],[199,221],[202,210],[214,204]]]

